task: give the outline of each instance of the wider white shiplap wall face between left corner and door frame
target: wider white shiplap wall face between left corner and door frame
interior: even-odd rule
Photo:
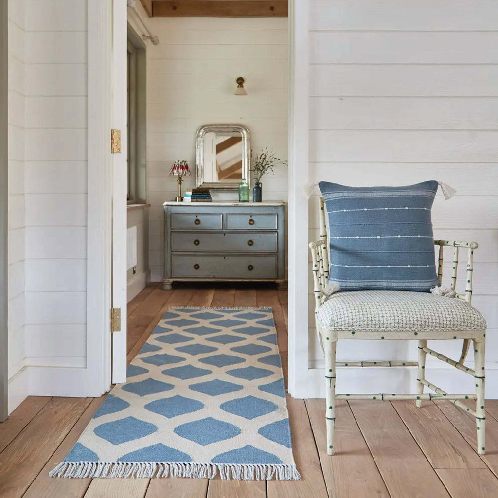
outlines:
[[[25,1],[26,363],[82,367],[87,1]]]

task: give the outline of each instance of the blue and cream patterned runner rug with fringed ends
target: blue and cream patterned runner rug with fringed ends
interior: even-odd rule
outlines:
[[[271,308],[169,308],[52,477],[300,479]]]

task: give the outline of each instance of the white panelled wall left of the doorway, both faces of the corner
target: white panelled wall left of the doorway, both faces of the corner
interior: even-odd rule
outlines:
[[[11,411],[85,366],[87,1],[8,7]]]

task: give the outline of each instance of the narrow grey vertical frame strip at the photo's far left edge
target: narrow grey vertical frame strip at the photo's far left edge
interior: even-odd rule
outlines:
[[[8,416],[8,14],[0,0],[0,422]]]

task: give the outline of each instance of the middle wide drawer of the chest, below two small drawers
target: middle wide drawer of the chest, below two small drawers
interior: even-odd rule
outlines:
[[[219,233],[172,232],[172,251],[217,252],[277,252],[277,233]]]

